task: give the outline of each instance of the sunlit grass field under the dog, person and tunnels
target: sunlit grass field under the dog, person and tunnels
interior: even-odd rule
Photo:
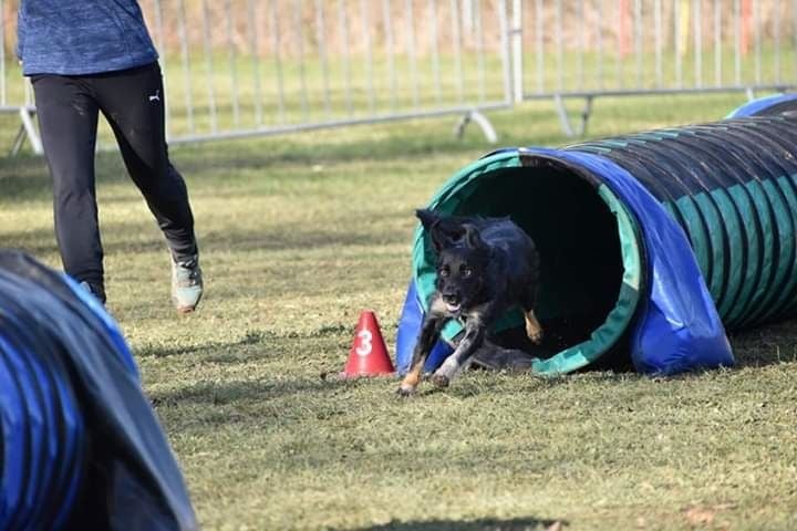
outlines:
[[[739,96],[599,100],[591,134],[715,119]],[[548,104],[489,115],[560,145]],[[395,397],[330,382],[360,312],[389,347],[413,209],[490,150],[453,119],[180,146],[207,294],[178,316],[161,235],[99,157],[108,310],[141,365],[204,529],[797,529],[797,326],[732,337],[733,369],[650,378],[468,373]],[[44,163],[0,162],[0,246],[58,267]],[[428,391],[428,387],[424,388]]]

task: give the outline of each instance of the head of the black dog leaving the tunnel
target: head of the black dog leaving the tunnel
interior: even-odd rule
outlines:
[[[480,302],[489,263],[489,247],[473,223],[418,217],[429,232],[437,253],[435,288],[445,310],[454,315],[467,313],[468,309]]]

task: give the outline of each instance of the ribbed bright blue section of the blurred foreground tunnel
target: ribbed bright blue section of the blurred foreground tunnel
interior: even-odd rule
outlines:
[[[3,304],[7,302],[3,299]],[[18,321],[13,327],[4,324],[0,335],[6,464],[0,529],[48,528],[49,522],[60,529],[83,479],[83,417],[75,408],[72,388],[60,379],[65,367],[56,360],[43,363],[28,355],[27,326]],[[46,504],[50,499],[63,503]]]

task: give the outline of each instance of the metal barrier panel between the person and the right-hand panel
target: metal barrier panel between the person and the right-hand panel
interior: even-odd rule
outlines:
[[[170,142],[510,104],[506,0],[143,0]],[[496,39],[497,38],[497,39]]]

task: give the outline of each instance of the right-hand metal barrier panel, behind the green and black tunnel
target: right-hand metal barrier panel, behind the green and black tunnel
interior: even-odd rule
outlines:
[[[552,98],[568,136],[598,96],[783,92],[797,81],[795,0],[513,0],[513,101]],[[566,98],[583,100],[570,123]]]

